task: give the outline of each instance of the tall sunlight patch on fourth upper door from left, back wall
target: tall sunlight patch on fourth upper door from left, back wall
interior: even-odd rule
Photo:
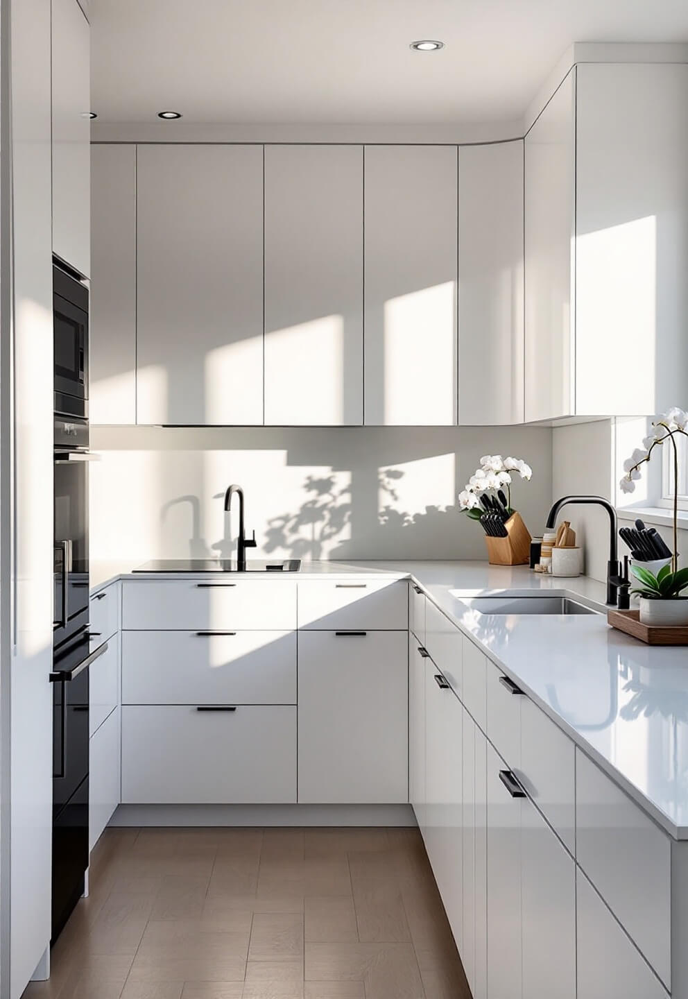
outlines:
[[[384,303],[386,424],[454,423],[455,289],[455,282],[447,281]]]

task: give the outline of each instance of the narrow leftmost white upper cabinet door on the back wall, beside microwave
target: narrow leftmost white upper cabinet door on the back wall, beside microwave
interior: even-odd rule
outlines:
[[[136,423],[136,147],[91,147],[89,411]]]

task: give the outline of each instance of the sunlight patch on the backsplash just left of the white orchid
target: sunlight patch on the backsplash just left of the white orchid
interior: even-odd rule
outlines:
[[[380,468],[377,518],[380,524],[438,527],[456,503],[455,455],[433,455]],[[453,515],[451,513],[450,515]],[[430,522],[431,521],[431,522]]]

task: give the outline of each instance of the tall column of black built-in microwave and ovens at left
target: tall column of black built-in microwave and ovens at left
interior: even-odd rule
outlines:
[[[53,269],[55,341],[53,611],[54,942],[84,891],[89,863],[88,290]]]

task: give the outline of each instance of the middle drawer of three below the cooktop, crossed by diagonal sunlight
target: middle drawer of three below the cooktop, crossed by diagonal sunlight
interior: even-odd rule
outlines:
[[[123,631],[123,704],[296,704],[297,632]]]

